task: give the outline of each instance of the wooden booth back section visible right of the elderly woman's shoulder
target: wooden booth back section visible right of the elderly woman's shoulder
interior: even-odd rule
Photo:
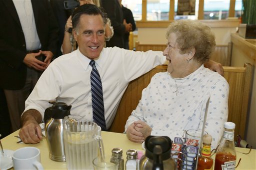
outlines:
[[[248,101],[251,91],[252,66],[223,67],[224,77],[229,84],[228,121],[235,123],[234,137],[238,134],[244,139]]]

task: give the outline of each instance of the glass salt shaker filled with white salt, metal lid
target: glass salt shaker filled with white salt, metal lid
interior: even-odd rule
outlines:
[[[137,151],[133,149],[129,149],[126,152],[126,163],[125,167],[126,170],[138,170],[138,164],[137,164]]]

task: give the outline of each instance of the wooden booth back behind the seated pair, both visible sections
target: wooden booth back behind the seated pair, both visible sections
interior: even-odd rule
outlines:
[[[149,84],[151,77],[155,73],[165,72],[166,69],[166,65],[157,66],[129,83],[118,106],[115,119],[110,128],[111,132],[124,132],[126,120],[132,110],[136,108],[141,98],[142,90]],[[246,63],[244,67],[225,66],[223,69],[224,77],[229,84],[228,121],[235,123],[235,137],[239,134],[243,139],[251,89],[252,66]]]

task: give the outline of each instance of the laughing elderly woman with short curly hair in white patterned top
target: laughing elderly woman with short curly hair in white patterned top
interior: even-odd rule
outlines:
[[[155,74],[142,91],[125,125],[127,137],[137,143],[149,135],[173,140],[184,130],[202,128],[209,98],[205,131],[216,147],[227,121],[229,86],[221,75],[203,66],[214,50],[214,34],[199,21],[176,20],[168,26],[166,38],[167,72]]]

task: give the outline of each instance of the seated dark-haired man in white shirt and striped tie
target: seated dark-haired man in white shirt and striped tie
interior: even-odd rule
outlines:
[[[72,27],[78,48],[53,60],[27,98],[19,131],[24,143],[42,139],[39,123],[51,106],[48,101],[72,105],[70,114],[102,123],[101,129],[108,130],[128,83],[166,61],[160,51],[103,48],[106,22],[105,13],[96,5],[84,4],[74,10]],[[100,112],[94,109],[95,85]],[[101,116],[100,122],[95,116]]]

